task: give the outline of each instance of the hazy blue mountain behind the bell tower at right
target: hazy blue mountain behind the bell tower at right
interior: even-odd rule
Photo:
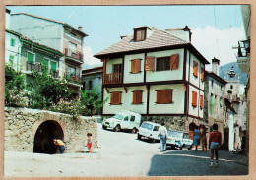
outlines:
[[[227,73],[231,70],[232,66],[233,66],[233,70],[235,71],[235,73],[238,74],[239,77],[240,77],[240,84],[246,84],[246,82],[247,82],[247,73],[242,73],[241,72],[237,62],[232,62],[232,63],[225,64],[224,66],[221,66],[219,68],[220,77],[222,77],[223,79],[226,79],[227,78]]]

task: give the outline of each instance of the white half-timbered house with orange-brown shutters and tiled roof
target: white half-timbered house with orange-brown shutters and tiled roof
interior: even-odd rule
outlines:
[[[98,52],[103,61],[102,115],[126,109],[144,120],[188,131],[203,123],[204,72],[209,62],[183,29],[134,28],[134,34]]]

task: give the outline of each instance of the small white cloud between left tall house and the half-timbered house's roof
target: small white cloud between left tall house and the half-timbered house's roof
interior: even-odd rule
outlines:
[[[85,46],[83,48],[83,53],[84,53],[84,64],[82,66],[83,68],[93,68],[96,66],[103,65],[100,59],[97,59],[94,57],[91,47]]]

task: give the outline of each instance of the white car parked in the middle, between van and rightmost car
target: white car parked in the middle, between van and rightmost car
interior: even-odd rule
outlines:
[[[141,140],[142,137],[149,138],[152,142],[160,141],[159,134],[160,124],[150,121],[144,121],[137,132],[137,138]]]

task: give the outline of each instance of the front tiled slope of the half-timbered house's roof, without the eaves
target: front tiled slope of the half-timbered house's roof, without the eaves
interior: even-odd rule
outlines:
[[[164,30],[152,27],[153,33],[144,41],[134,42],[133,35],[121,39],[117,43],[105,48],[104,50],[96,53],[95,56],[129,52],[134,50],[153,49],[159,47],[167,47],[172,45],[189,44],[189,42],[182,40]]]

